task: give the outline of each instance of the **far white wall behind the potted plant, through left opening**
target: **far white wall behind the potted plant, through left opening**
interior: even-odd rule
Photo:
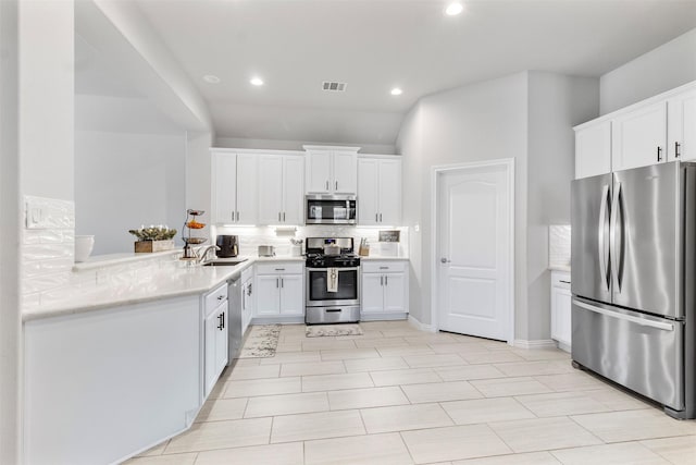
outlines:
[[[96,236],[94,255],[133,252],[140,224],[181,232],[185,210],[183,132],[75,133],[75,233]]]

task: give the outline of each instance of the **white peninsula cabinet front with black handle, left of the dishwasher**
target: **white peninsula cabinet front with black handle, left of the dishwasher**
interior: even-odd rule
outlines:
[[[203,396],[207,397],[227,365],[227,284],[208,293],[203,299]]]

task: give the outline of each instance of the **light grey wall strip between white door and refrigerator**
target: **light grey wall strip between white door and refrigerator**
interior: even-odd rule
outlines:
[[[527,318],[522,339],[550,339],[548,227],[570,224],[570,183],[574,178],[573,125],[599,110],[599,79],[529,73],[527,135]],[[526,328],[524,328],[526,326]]]

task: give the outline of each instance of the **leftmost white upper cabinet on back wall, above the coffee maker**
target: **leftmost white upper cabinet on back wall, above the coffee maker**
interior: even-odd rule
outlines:
[[[212,222],[256,224],[257,157],[213,150],[211,167]]]

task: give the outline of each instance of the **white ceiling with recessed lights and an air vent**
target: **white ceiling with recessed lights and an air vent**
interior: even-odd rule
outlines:
[[[440,0],[132,1],[217,137],[338,144],[394,144],[432,93],[524,70],[600,76],[696,27],[696,0],[470,0],[459,16]]]

